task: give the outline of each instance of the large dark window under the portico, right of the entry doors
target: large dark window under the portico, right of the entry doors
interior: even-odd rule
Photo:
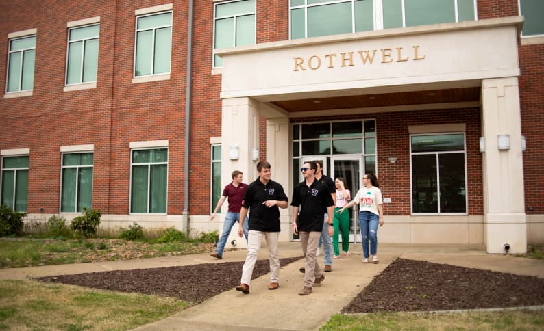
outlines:
[[[467,213],[465,135],[411,137],[412,213]]]

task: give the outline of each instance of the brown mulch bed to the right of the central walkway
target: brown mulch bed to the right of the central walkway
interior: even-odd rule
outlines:
[[[544,304],[544,279],[397,259],[343,313],[504,308]]]

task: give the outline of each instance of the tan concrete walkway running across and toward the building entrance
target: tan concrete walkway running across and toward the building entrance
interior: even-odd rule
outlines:
[[[304,265],[304,260],[301,260],[280,270],[280,288],[275,291],[267,289],[269,283],[267,274],[252,280],[249,295],[232,289],[136,330],[317,330],[333,314],[339,313],[341,308],[347,306],[374,276],[397,257],[544,278],[544,260],[489,255],[485,253],[484,246],[380,243],[378,246],[380,263],[377,265],[361,262],[360,244],[356,246],[351,244],[350,250],[351,256],[341,255],[340,259],[334,260],[332,272],[325,273],[321,287],[314,288],[314,292],[308,296],[298,295],[302,288],[299,267]],[[300,256],[300,243],[280,243],[279,252],[282,258]],[[131,261],[0,269],[0,280],[114,269],[244,261],[245,254],[245,250],[225,252],[223,260],[213,259],[208,254],[194,254]],[[259,259],[267,259],[266,247],[260,251]],[[323,256],[319,256],[319,262],[323,263]]]

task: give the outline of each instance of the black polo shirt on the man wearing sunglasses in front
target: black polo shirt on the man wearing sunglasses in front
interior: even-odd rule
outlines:
[[[306,181],[299,183],[293,191],[291,206],[299,207],[299,231],[321,232],[323,230],[323,210],[334,206],[327,185],[314,181],[310,186]]]

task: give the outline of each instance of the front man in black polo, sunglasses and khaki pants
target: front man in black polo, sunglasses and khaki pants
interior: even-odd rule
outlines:
[[[304,181],[295,187],[291,206],[293,206],[293,233],[300,236],[302,252],[306,255],[304,287],[299,295],[308,295],[312,293],[312,287],[321,286],[321,282],[325,279],[323,270],[321,270],[315,258],[315,252],[323,228],[323,209],[327,210],[328,220],[332,221],[334,201],[327,186],[315,178],[315,172],[317,171],[315,162],[305,162],[300,170],[304,175]],[[297,224],[299,210],[300,215]],[[327,233],[332,236],[334,233],[332,222],[327,226]]]

